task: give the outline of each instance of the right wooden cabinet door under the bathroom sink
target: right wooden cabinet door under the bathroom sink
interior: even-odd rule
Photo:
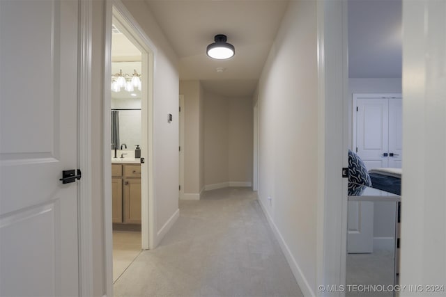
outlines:
[[[124,179],[124,223],[141,224],[141,179]]]

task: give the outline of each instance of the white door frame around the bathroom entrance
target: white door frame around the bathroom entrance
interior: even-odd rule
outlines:
[[[103,143],[104,152],[104,233],[105,233],[105,274],[107,296],[113,296],[113,233],[112,233],[112,162],[111,162],[111,136],[109,127],[111,122],[111,90],[107,80],[107,74],[112,74],[112,22],[116,18],[121,23],[129,35],[128,38],[137,43],[141,50],[142,58],[142,99],[141,99],[141,117],[142,136],[141,136],[141,156],[145,158],[145,165],[141,164],[141,248],[154,248],[155,221],[156,213],[154,211],[154,166],[153,166],[153,96],[155,86],[155,61],[157,49],[150,38],[144,33],[139,24],[134,20],[130,12],[125,8],[120,0],[106,1],[105,7],[105,81],[104,81],[104,109],[103,109]],[[146,78],[146,79],[144,79]],[[145,84],[145,86],[144,86]],[[147,115],[147,116],[144,116]],[[144,133],[146,129],[147,133]]]

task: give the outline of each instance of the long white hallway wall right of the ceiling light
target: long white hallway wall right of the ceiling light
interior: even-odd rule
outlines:
[[[258,90],[259,202],[305,296],[317,292],[316,36],[316,1],[291,1]]]

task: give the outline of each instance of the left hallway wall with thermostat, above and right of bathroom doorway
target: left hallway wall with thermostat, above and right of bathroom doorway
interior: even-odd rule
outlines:
[[[178,216],[178,61],[146,3],[123,0],[123,4],[157,49],[153,96],[156,246],[167,232],[167,224]],[[171,123],[167,122],[169,113],[174,115]]]

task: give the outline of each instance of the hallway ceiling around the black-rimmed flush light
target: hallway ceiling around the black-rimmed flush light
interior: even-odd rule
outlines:
[[[254,93],[289,1],[146,0],[179,58],[180,79],[198,79],[203,88],[229,97]],[[208,58],[206,47],[225,34],[236,47],[226,61]],[[224,72],[217,72],[223,67]]]

